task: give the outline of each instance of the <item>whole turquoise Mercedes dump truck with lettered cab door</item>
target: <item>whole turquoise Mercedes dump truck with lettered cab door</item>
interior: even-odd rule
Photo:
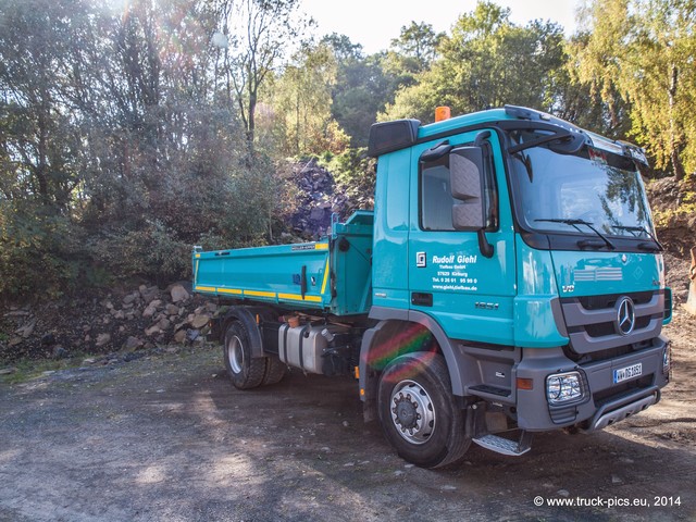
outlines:
[[[642,149],[506,105],[371,127],[374,211],[315,243],[192,253],[240,389],[355,376],[406,460],[593,432],[660,400],[671,319]]]

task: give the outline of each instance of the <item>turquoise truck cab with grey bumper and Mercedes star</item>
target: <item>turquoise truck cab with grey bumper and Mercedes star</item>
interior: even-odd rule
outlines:
[[[506,107],[376,124],[370,151],[370,315],[433,334],[453,396],[480,419],[474,442],[519,455],[529,433],[591,432],[659,400],[671,298],[641,149]],[[486,413],[524,434],[490,434]]]

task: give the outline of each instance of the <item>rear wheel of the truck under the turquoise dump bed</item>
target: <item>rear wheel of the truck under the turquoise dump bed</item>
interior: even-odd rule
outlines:
[[[263,382],[266,360],[251,357],[249,333],[241,321],[233,321],[227,326],[223,357],[235,388],[256,388]]]

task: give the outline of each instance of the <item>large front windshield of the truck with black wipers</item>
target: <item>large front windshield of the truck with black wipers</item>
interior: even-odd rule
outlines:
[[[539,137],[539,130],[510,133],[512,144]],[[652,234],[641,174],[633,160],[583,146],[568,154],[554,144],[512,154],[512,178],[525,227],[540,232],[639,237]]]

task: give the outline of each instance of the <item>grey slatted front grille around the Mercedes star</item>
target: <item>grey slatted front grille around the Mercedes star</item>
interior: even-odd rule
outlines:
[[[618,303],[630,297],[635,323],[629,335],[620,333]],[[664,293],[641,291],[561,299],[561,309],[570,337],[569,350],[577,356],[604,353],[618,357],[630,353],[660,335],[664,316]],[[574,360],[577,357],[573,358]],[[597,358],[592,357],[593,360]]]

